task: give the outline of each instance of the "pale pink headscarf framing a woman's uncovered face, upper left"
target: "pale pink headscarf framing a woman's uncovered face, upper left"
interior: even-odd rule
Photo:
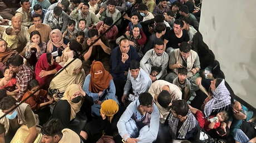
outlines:
[[[61,40],[59,42],[55,43],[55,42],[52,41],[52,34],[53,33],[57,34],[58,37],[61,38]],[[52,53],[53,45],[55,45],[57,48],[59,48],[61,46],[63,48],[67,47],[67,45],[63,43],[62,33],[61,33],[61,30],[59,30],[59,29],[53,29],[51,31],[51,33],[50,33],[50,40],[47,43],[47,50],[46,51],[49,52],[49,53]]]

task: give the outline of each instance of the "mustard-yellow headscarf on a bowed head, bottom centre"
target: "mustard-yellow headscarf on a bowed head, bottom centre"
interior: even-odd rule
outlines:
[[[112,118],[114,117],[114,115],[117,113],[118,110],[119,110],[119,106],[116,103],[116,101],[112,99],[108,99],[101,104],[100,113],[105,114],[109,119],[109,121],[111,122]]]

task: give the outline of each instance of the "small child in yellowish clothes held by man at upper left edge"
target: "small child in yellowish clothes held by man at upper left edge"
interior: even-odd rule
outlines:
[[[18,47],[18,37],[14,29],[11,27],[6,28],[6,34],[7,36],[4,38],[4,40],[8,44],[7,47],[16,49]]]

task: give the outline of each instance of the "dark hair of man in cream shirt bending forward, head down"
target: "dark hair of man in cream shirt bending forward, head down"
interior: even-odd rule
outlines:
[[[162,90],[161,93],[157,96],[157,102],[163,108],[168,108],[169,104],[171,103],[171,95],[169,91]]]

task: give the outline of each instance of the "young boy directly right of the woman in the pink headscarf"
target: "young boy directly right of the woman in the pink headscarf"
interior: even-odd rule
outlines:
[[[72,40],[76,38],[77,30],[75,28],[76,22],[73,19],[69,19],[67,23],[67,30],[63,33],[63,38]]]

